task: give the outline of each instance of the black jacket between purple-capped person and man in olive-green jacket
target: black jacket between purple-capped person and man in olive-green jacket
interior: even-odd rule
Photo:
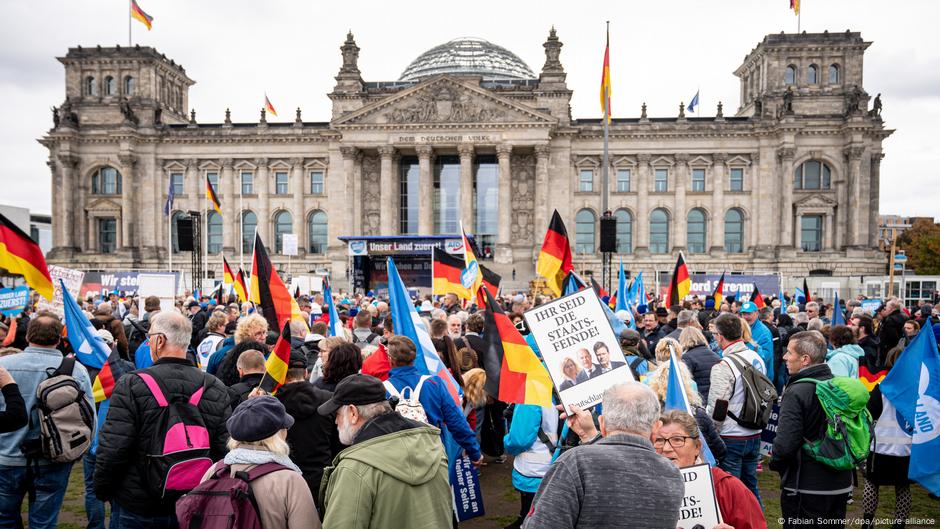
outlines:
[[[291,461],[300,467],[314,498],[320,495],[323,469],[342,450],[334,418],[317,413],[330,397],[331,393],[306,381],[292,382],[277,392],[277,400],[294,418],[294,425],[287,430]]]

